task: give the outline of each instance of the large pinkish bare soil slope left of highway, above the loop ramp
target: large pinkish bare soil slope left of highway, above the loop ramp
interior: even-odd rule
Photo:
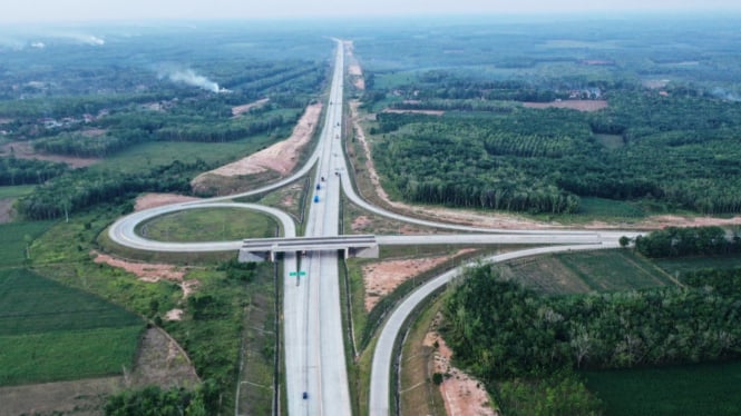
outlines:
[[[266,170],[276,171],[281,176],[290,174],[296,165],[299,152],[311,140],[321,112],[321,103],[306,107],[306,111],[304,111],[299,123],[293,128],[293,133],[290,138],[241,160],[201,174],[193,179],[191,186],[194,189],[198,189],[207,180],[207,176],[211,176],[213,180],[214,176],[237,177],[255,175]]]

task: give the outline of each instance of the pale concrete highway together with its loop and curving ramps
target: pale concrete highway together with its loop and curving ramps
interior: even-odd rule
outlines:
[[[539,252],[615,247],[621,236],[632,237],[636,235],[635,232],[618,230],[516,230],[468,227],[411,218],[370,205],[352,187],[351,175],[348,175],[343,156],[342,140],[340,140],[342,136],[344,57],[342,43],[338,40],[337,44],[334,72],[325,107],[325,120],[316,148],[303,167],[285,179],[247,192],[175,204],[130,214],[111,225],[108,230],[110,239],[119,245],[140,250],[183,252],[237,250],[243,245],[242,240],[163,242],[149,240],[136,234],[138,225],[157,216],[184,209],[222,207],[236,207],[265,212],[281,224],[283,237],[295,237],[293,219],[285,212],[255,204],[236,204],[228,200],[277,189],[308,175],[313,167],[316,167],[314,184],[318,184],[319,188],[312,189],[311,209],[305,222],[306,237],[338,236],[342,192],[353,204],[380,216],[409,224],[464,232],[431,236],[377,236],[379,245],[557,245],[495,256],[491,258],[494,261]],[[291,273],[298,271],[304,271],[305,276],[290,276]],[[416,305],[449,281],[455,275],[455,270],[449,271],[412,293],[392,313],[381,330],[373,356],[371,374],[369,408],[372,415],[387,415],[389,410],[391,348],[393,339],[401,328],[401,323]],[[344,333],[341,321],[337,250],[313,250],[310,251],[309,256],[302,258],[296,258],[296,255],[286,251],[284,254],[283,294],[283,339],[289,414],[350,415],[351,406],[343,345]]]

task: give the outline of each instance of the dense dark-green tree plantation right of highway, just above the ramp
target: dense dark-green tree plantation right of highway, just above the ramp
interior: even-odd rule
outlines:
[[[449,101],[442,117],[381,112],[373,157],[396,194],[416,202],[562,214],[577,212],[579,197],[601,197],[741,211],[740,103],[605,97],[610,107],[592,113],[510,102],[487,112],[468,99]]]

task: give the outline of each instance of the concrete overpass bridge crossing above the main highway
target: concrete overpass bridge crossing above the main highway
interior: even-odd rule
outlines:
[[[376,236],[250,238],[240,248],[240,261],[275,261],[277,252],[343,250],[344,257],[378,257]]]

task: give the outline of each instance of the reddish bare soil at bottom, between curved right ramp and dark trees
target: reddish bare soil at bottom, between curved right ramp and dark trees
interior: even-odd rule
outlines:
[[[440,315],[436,317],[439,321]],[[484,384],[450,364],[452,350],[437,331],[428,333],[425,345],[438,348],[433,354],[435,372],[446,375],[440,394],[448,415],[496,416]]]

